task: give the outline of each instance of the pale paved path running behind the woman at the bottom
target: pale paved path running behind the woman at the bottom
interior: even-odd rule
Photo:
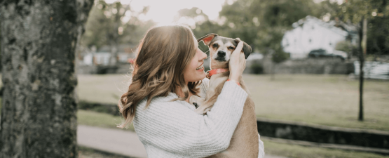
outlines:
[[[147,157],[146,150],[136,133],[121,129],[104,129],[79,125],[77,129],[79,145],[122,154],[130,157]],[[265,158],[285,158],[266,155]]]

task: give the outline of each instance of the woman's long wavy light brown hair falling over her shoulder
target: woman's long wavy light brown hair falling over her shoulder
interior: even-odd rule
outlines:
[[[196,55],[193,33],[189,27],[170,25],[149,29],[137,48],[137,58],[132,68],[132,81],[119,100],[118,107],[125,121],[118,125],[124,128],[135,117],[137,104],[147,97],[146,107],[155,96],[168,96],[182,88],[186,100],[189,91],[197,95],[201,81],[185,84],[184,69]]]

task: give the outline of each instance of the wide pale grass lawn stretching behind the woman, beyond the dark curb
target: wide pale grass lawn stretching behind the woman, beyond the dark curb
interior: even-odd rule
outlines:
[[[124,74],[79,75],[81,100],[116,104],[128,87]],[[346,75],[244,74],[257,117],[357,129],[389,130],[389,81],[365,80],[364,121],[357,121],[358,81]]]

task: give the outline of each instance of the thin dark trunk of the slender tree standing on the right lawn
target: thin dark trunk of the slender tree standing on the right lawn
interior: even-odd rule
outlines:
[[[362,29],[360,29],[360,37],[362,35],[362,41],[360,41],[360,112],[358,114],[358,120],[363,121],[363,81],[364,81],[364,54],[366,53],[367,44],[367,19],[363,18],[361,22]]]

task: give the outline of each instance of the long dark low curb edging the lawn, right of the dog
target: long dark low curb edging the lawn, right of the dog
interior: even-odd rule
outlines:
[[[293,121],[257,118],[261,136],[302,140],[312,143],[389,148],[389,132],[371,129],[349,129]]]

